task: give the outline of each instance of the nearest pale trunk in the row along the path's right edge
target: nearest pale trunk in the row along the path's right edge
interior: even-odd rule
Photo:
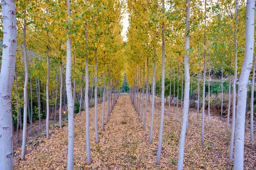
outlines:
[[[186,0],[186,29],[185,29],[185,57],[184,57],[184,72],[185,72],[185,90],[184,90],[184,107],[183,107],[183,117],[182,126],[180,130],[180,142],[179,142],[179,159],[177,170],[183,170],[183,158],[184,158],[184,144],[186,136],[186,128],[188,127],[188,111],[189,111],[189,13],[190,4],[189,0]]]

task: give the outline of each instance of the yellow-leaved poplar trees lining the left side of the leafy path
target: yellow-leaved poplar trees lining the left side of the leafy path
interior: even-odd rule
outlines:
[[[24,160],[27,118],[30,131],[32,121],[39,119],[39,127],[34,128],[40,131],[41,118],[45,113],[46,136],[49,139],[49,117],[51,110],[55,109],[55,120],[59,110],[60,127],[63,113],[67,111],[68,169],[73,169],[75,102],[79,103],[79,113],[84,104],[87,163],[90,164],[89,100],[92,105],[94,96],[95,142],[98,143],[98,98],[103,98],[104,130],[104,122],[108,122],[122,86],[125,65],[120,20],[123,3],[107,0],[67,0],[67,3],[20,0],[16,3],[16,10],[13,1],[3,0],[1,6],[4,29],[0,73],[3,106],[0,107],[0,167],[9,170],[13,165],[12,116],[14,121],[17,120],[17,127],[23,128],[21,159]],[[33,116],[35,113],[37,115]]]

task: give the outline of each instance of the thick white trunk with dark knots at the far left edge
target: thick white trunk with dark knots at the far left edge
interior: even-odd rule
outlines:
[[[12,170],[12,83],[17,49],[16,8],[14,1],[2,1],[3,57],[0,71],[0,167]]]

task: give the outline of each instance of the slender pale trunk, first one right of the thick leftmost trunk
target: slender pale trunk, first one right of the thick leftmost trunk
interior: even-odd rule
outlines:
[[[27,129],[27,109],[28,109],[28,81],[29,81],[29,71],[28,71],[28,63],[27,63],[27,51],[26,51],[26,11],[24,11],[24,23],[23,23],[23,50],[24,50],[24,65],[25,65],[25,82],[24,82],[24,107],[23,107],[23,135],[22,135],[22,150],[21,150],[21,160],[25,160],[25,152],[26,152],[26,129]],[[16,22],[16,21],[15,21]]]

